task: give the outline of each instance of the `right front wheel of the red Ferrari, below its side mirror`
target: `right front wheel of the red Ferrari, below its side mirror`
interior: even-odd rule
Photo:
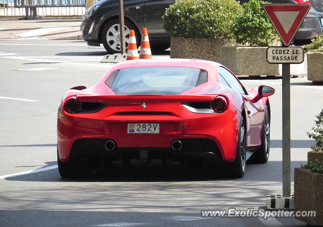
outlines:
[[[261,130],[261,146],[250,158],[252,163],[266,163],[269,158],[271,148],[271,125],[268,114],[268,107],[264,111],[264,118]]]

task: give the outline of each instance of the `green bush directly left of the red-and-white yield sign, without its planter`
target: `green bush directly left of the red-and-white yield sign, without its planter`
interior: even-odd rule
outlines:
[[[276,43],[278,34],[263,10],[260,0],[242,5],[243,11],[234,18],[233,33],[237,42],[250,46],[268,46]]]

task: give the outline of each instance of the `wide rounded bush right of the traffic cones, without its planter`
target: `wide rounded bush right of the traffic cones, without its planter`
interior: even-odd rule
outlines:
[[[177,0],[165,12],[164,28],[176,37],[231,39],[241,10],[235,0]]]

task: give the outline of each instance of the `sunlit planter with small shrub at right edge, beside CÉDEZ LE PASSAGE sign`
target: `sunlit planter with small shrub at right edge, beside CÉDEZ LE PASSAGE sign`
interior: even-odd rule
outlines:
[[[323,82],[323,36],[315,37],[310,44],[304,45],[304,49],[307,52],[307,79]]]

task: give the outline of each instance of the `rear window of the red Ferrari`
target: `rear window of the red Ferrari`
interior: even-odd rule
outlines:
[[[136,67],[113,72],[106,84],[117,95],[181,94],[207,82],[205,70],[187,67]]]

